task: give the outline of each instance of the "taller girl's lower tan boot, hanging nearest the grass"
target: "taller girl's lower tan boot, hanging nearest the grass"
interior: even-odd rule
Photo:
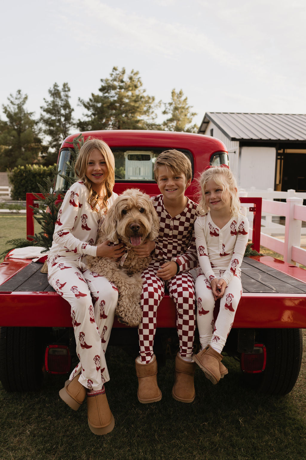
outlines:
[[[115,419],[107,402],[105,388],[87,392],[87,419],[90,430],[98,435],[109,433]]]

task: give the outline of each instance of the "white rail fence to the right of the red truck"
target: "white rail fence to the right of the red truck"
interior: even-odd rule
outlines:
[[[239,190],[239,195],[262,198],[261,246],[282,254],[285,262],[306,265],[306,249],[301,247],[301,239],[306,240],[306,237],[303,237],[306,236],[306,227],[302,227],[302,222],[306,222],[306,206],[303,206],[306,193],[295,193],[295,190],[276,192],[271,189],[252,188]],[[273,201],[274,198],[285,198],[286,202]],[[251,213],[248,217],[252,221]],[[273,222],[277,217],[284,217],[285,224]],[[250,237],[251,234],[250,230]]]

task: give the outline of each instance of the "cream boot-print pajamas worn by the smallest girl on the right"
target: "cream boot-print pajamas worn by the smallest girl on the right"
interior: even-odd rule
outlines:
[[[221,353],[233,326],[242,294],[240,265],[248,242],[249,221],[239,214],[222,229],[212,221],[210,212],[195,221],[195,243],[200,267],[195,280],[197,326],[202,349],[211,345]],[[227,284],[214,314],[215,301],[211,280],[223,278]],[[216,319],[217,316],[217,319]]]

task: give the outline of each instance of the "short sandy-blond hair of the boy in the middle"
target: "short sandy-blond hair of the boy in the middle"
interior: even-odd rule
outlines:
[[[156,182],[158,182],[158,168],[161,166],[168,167],[173,174],[180,175],[183,173],[187,182],[192,179],[190,160],[186,155],[184,155],[184,153],[179,152],[178,150],[165,150],[158,155],[153,169]]]

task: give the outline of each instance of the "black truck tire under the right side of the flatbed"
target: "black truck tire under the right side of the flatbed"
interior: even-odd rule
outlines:
[[[258,393],[286,395],[299,376],[302,359],[301,329],[257,329],[256,343],[266,345],[266,368],[260,374],[244,374],[247,385]]]

